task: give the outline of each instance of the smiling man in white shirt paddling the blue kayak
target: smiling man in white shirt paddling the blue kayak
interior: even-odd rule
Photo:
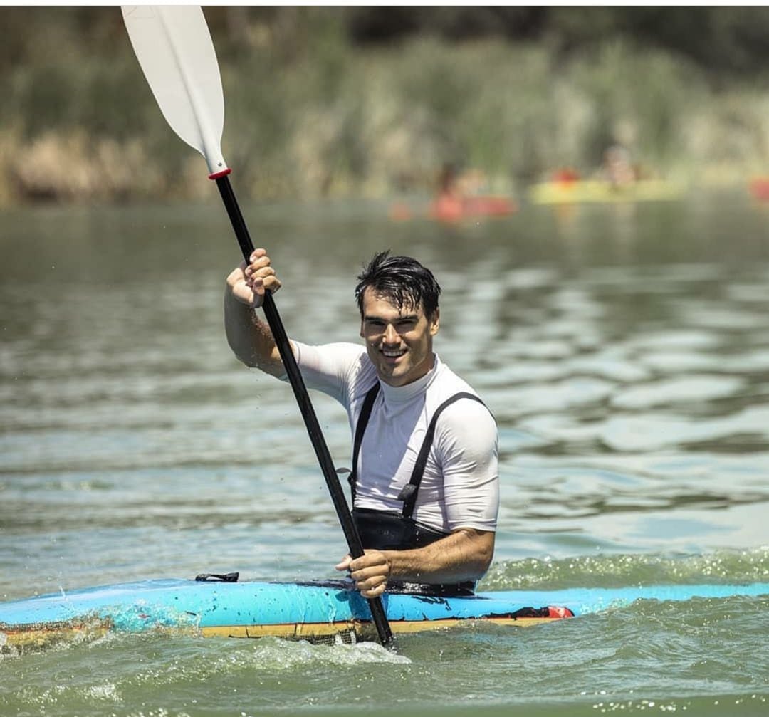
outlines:
[[[308,387],[348,411],[355,436],[353,519],[365,555],[345,557],[366,598],[385,588],[467,594],[494,553],[497,427],[470,386],[433,352],[441,288],[412,258],[376,255],[355,289],[365,348],[291,341]],[[264,249],[227,278],[225,328],[248,366],[285,378],[255,315],[281,282]]]

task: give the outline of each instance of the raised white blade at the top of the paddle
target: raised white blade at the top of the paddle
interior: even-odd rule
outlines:
[[[200,5],[122,5],[139,65],[161,112],[208,172],[228,172],[221,155],[225,96],[214,43]]]

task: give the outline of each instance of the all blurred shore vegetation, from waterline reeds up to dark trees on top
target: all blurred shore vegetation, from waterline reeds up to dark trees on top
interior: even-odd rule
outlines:
[[[211,7],[223,150],[251,198],[520,192],[621,142],[647,172],[769,171],[769,8]],[[0,203],[195,198],[118,7],[0,8]]]

